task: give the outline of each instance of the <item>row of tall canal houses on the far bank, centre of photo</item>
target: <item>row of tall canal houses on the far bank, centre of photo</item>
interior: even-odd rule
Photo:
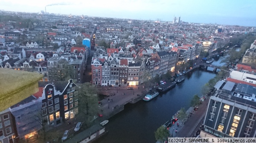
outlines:
[[[96,49],[92,62],[92,84],[101,86],[139,85],[157,74],[174,71],[179,54],[160,51],[149,54],[120,54],[118,49]]]

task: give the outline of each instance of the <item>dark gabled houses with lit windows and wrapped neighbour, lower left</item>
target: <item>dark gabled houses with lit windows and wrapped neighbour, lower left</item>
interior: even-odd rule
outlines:
[[[59,126],[78,113],[78,92],[73,79],[40,81],[38,92],[0,112],[0,143],[18,143]]]

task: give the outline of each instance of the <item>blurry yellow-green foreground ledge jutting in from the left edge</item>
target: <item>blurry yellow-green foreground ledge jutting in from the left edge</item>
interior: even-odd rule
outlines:
[[[0,68],[0,111],[38,92],[42,77],[39,73]]]

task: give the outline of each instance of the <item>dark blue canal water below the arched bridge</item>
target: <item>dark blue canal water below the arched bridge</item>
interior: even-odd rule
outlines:
[[[125,109],[109,119],[108,134],[95,143],[155,143],[154,132],[172,118],[180,108],[188,109],[193,95],[201,95],[201,87],[215,77],[195,69],[186,74],[186,79],[166,94],[151,101],[126,104]]]

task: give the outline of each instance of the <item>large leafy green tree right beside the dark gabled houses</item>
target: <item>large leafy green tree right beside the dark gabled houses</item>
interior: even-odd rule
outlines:
[[[94,115],[99,111],[98,109],[98,97],[96,93],[95,86],[86,82],[79,85],[80,89],[78,90],[79,97],[79,116],[85,118],[86,123],[94,118]]]

